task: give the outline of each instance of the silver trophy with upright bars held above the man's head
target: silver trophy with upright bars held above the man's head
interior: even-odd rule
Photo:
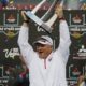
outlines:
[[[48,9],[48,11],[40,18],[35,15],[38,10],[46,2],[47,0],[42,0],[32,11],[27,11],[26,16],[33,20],[38,26],[42,27],[46,32],[51,33],[53,28],[53,24],[57,19],[57,14],[53,14],[53,16],[47,20],[51,16],[51,13],[54,11],[58,0],[54,0],[53,4]],[[61,0],[60,5],[63,5],[64,0]]]

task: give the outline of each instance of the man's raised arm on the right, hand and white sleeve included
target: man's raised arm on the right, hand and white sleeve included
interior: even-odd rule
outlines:
[[[59,5],[57,6],[56,14],[59,19],[59,33],[60,33],[58,51],[61,54],[63,61],[67,63],[69,58],[69,47],[71,44],[71,40],[70,40],[69,27],[63,16],[62,6]]]

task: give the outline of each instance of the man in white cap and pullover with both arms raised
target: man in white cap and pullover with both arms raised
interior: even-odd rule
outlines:
[[[35,51],[28,43],[28,25],[24,12],[24,24],[19,31],[18,45],[24,60],[29,68],[30,86],[67,86],[66,63],[69,57],[70,34],[62,8],[57,6],[55,14],[59,19],[60,43],[53,51],[53,40],[48,35],[42,35],[34,42]]]

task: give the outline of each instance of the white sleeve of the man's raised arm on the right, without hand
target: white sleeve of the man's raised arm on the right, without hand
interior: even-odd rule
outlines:
[[[60,41],[59,41],[59,47],[57,49],[60,53],[64,63],[67,63],[71,40],[70,40],[70,32],[69,32],[68,24],[66,20],[60,20],[59,33],[60,33]]]

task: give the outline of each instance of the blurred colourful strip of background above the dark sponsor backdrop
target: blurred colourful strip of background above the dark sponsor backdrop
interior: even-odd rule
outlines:
[[[4,6],[6,8],[6,6],[12,6],[12,5],[15,6],[14,9],[18,9],[18,10],[28,9],[28,8],[32,9],[41,0],[0,0],[0,9],[4,9]],[[47,2],[52,4],[53,0],[48,0]],[[44,5],[44,6],[47,8],[47,5]],[[86,0],[66,0],[64,8],[73,9],[73,10],[86,9]]]

